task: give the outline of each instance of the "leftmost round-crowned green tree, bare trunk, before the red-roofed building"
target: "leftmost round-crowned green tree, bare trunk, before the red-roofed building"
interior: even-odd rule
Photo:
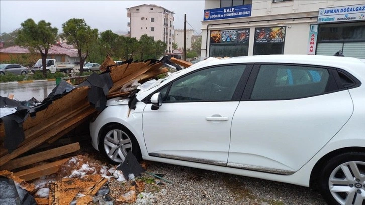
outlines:
[[[39,51],[42,57],[43,75],[46,76],[48,49],[56,43],[58,29],[44,20],[36,24],[33,19],[25,20],[21,26],[15,43],[27,47],[31,52]]]

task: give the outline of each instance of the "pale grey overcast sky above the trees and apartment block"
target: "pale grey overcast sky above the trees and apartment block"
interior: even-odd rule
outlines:
[[[13,1],[0,0],[0,33],[11,32],[20,28],[28,18],[35,22],[45,20],[62,32],[62,23],[71,18],[83,18],[92,28],[99,32],[112,30],[116,33],[127,33],[126,8],[141,4],[155,4],[175,13],[175,29],[184,28],[184,14],[187,22],[201,32],[204,1]],[[187,24],[187,29],[191,27]]]

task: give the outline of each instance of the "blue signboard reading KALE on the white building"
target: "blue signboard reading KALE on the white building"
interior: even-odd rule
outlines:
[[[251,5],[205,9],[203,21],[251,16]]]

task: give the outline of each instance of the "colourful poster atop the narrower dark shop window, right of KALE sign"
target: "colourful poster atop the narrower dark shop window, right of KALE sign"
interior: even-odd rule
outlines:
[[[285,26],[256,28],[255,43],[283,43],[285,28]]]

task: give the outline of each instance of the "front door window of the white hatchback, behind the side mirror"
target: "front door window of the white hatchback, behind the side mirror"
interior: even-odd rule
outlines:
[[[229,101],[245,65],[213,67],[188,74],[160,90],[164,102]]]

